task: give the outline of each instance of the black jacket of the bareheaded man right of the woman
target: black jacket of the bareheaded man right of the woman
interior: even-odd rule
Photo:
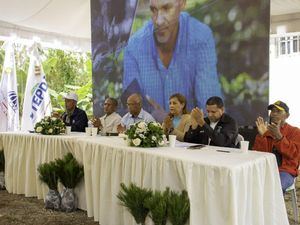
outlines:
[[[224,113],[215,126],[215,129],[210,127],[210,121],[207,117],[205,117],[204,120],[205,124],[203,127],[198,125],[198,127],[194,130],[190,127],[188,132],[184,135],[185,142],[207,145],[210,138],[210,145],[235,147],[235,139],[238,135],[238,126],[232,117]]]

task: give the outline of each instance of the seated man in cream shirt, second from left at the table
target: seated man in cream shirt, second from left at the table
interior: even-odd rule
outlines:
[[[105,115],[92,120],[94,127],[98,127],[101,133],[117,133],[117,127],[121,123],[121,116],[116,113],[118,101],[107,98],[104,102]]]

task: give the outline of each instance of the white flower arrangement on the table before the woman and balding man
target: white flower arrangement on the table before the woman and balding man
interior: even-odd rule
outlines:
[[[162,126],[156,122],[137,122],[126,130],[128,144],[135,147],[157,147],[164,145]]]

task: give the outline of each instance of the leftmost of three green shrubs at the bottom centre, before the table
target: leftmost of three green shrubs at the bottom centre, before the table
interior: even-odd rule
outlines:
[[[145,224],[149,209],[145,207],[145,201],[150,198],[152,191],[140,188],[131,183],[128,187],[121,183],[121,190],[117,195],[121,204],[128,209],[137,224]]]

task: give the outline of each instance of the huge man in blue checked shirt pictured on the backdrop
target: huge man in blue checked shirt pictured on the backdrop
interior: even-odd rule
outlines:
[[[124,51],[123,89],[137,80],[143,94],[164,110],[176,92],[187,98],[188,109],[204,108],[210,96],[221,96],[212,32],[181,12],[185,3],[150,0],[152,20],[130,38]]]

